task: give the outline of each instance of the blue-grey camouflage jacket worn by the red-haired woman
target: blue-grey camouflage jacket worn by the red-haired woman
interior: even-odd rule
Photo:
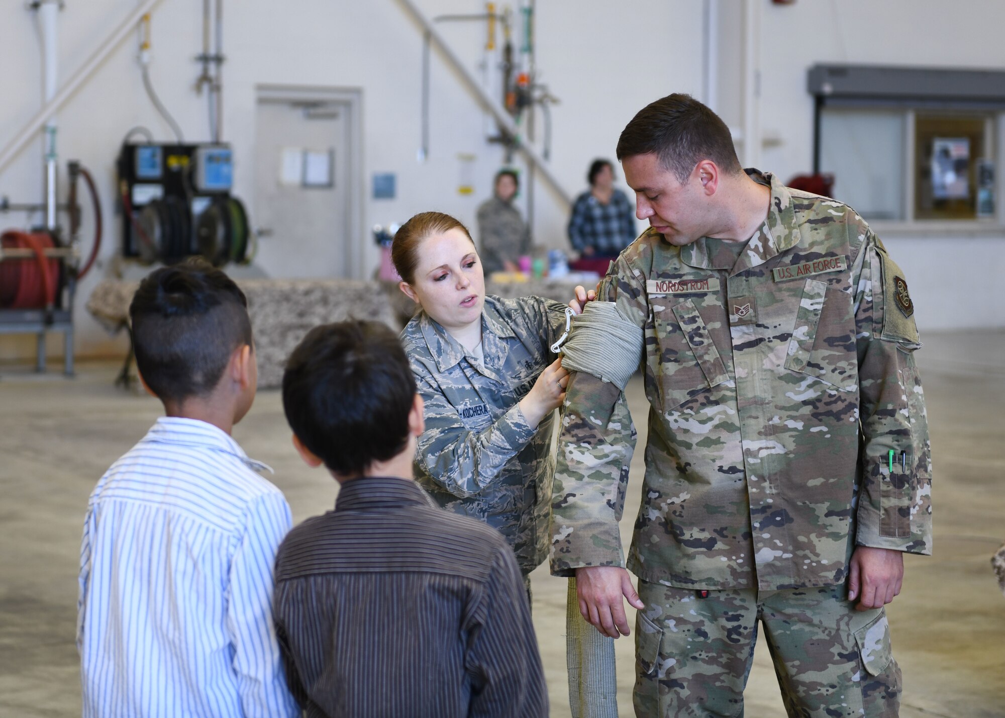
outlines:
[[[548,556],[555,413],[531,428],[517,402],[555,361],[565,305],[489,296],[481,317],[483,366],[425,312],[401,333],[425,402],[415,477],[445,509],[498,529],[526,573]]]

